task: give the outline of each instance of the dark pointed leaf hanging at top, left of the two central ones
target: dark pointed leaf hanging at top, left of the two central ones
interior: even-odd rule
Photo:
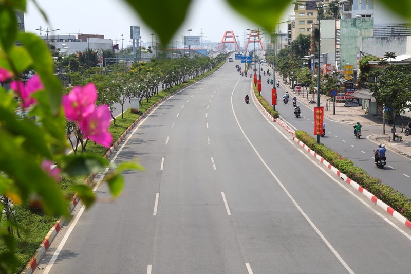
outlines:
[[[162,45],[167,45],[174,33],[184,22],[191,0],[157,0],[155,8],[150,1],[126,0],[160,37]]]

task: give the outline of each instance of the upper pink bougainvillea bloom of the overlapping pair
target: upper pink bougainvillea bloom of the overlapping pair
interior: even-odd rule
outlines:
[[[68,95],[63,95],[62,105],[67,119],[81,122],[96,108],[97,90],[94,83],[84,87],[74,87]]]

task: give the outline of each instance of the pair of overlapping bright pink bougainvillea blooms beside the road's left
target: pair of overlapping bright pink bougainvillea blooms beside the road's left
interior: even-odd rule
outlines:
[[[111,114],[107,105],[96,107],[96,100],[96,86],[90,83],[63,95],[62,105],[67,119],[78,123],[85,138],[109,148],[113,139],[108,132]]]

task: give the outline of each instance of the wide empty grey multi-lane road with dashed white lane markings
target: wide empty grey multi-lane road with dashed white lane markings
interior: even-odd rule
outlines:
[[[35,273],[408,272],[407,228],[246,105],[235,64],[140,122],[112,159],[146,171],[115,202],[100,185]]]

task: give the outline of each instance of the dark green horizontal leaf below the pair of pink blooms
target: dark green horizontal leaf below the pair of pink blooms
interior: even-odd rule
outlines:
[[[63,171],[69,176],[97,174],[103,171],[109,164],[106,158],[89,154],[67,155],[65,160],[66,167]]]

